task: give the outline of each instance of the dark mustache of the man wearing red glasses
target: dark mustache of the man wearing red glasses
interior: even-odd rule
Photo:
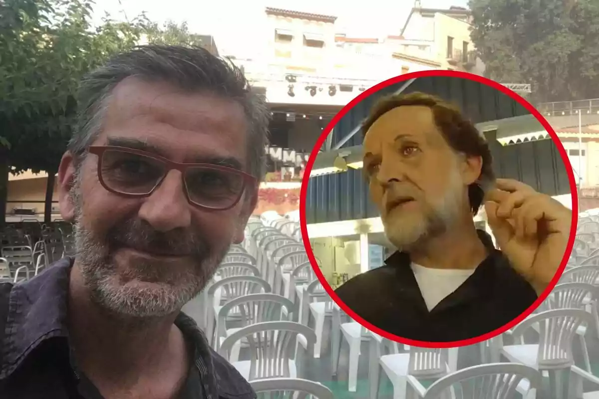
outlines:
[[[174,229],[158,232],[146,221],[130,219],[108,232],[108,244],[114,248],[126,246],[156,255],[191,256],[203,258],[208,246],[199,229]]]

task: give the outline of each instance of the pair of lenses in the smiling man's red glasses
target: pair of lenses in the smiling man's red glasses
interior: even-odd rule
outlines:
[[[106,150],[102,156],[104,184],[123,194],[149,194],[167,172],[167,166],[152,157],[127,151]],[[187,167],[185,188],[191,202],[209,208],[228,208],[244,189],[243,175],[210,166]]]

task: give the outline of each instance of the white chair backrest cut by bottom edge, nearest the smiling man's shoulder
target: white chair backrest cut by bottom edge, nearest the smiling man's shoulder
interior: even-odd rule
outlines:
[[[268,378],[250,382],[258,399],[333,399],[331,389],[301,378]]]

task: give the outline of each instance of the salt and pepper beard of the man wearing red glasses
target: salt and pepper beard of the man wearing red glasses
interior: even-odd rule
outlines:
[[[114,226],[99,237],[84,223],[83,199],[78,179],[71,189],[75,205],[75,249],[78,267],[92,301],[107,312],[126,318],[157,318],[177,312],[205,287],[228,252],[229,245],[211,248],[198,229],[192,233],[158,233],[144,221],[132,219]],[[118,241],[113,240],[114,238]],[[152,248],[158,243],[182,246],[192,254],[193,266],[155,264],[152,260],[136,259],[127,270],[117,270],[114,243],[135,243],[137,247]],[[138,279],[153,283],[151,287],[123,285],[123,280]]]

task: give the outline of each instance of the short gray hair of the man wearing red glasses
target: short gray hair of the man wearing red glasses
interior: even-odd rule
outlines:
[[[209,92],[240,103],[249,126],[247,172],[259,180],[264,178],[270,121],[265,100],[252,92],[243,72],[229,60],[204,48],[173,45],[135,47],[117,54],[83,78],[77,99],[77,128],[67,148],[75,157],[75,165],[101,132],[114,87],[128,77],[164,81],[188,92]]]

